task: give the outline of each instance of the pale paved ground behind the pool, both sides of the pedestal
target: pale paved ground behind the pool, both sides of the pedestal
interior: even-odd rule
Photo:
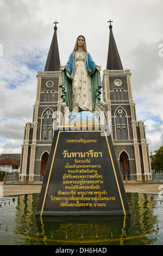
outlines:
[[[161,187],[162,186],[162,187]],[[163,184],[124,184],[126,192],[159,194]],[[18,194],[37,194],[41,185],[3,185],[0,182],[0,196],[17,196]]]

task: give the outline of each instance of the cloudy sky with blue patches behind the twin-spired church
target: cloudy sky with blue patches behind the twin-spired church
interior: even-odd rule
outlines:
[[[131,72],[137,121],[149,153],[163,145],[162,0],[0,0],[0,154],[21,153],[32,122],[37,71],[43,71],[56,20],[61,65],[78,35],[106,69],[109,23],[123,69]]]

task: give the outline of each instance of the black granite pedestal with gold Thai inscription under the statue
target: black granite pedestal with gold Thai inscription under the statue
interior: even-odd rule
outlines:
[[[36,215],[130,215],[112,139],[105,130],[55,131]]]

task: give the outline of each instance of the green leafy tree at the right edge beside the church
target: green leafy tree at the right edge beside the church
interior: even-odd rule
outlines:
[[[162,173],[163,172],[163,146],[161,146],[158,150],[155,150],[155,155],[152,156],[151,168],[155,170],[155,172]]]

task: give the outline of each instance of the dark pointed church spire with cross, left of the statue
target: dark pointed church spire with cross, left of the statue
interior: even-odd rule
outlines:
[[[44,71],[58,71],[60,68],[60,58],[58,50],[58,40],[57,40],[57,21],[54,22],[54,34],[51,42],[51,47],[49,49],[45,70]]]

